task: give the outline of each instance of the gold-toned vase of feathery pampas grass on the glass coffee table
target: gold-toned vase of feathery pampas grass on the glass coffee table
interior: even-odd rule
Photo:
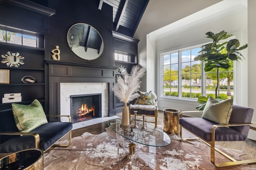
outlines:
[[[127,103],[136,99],[139,94],[136,93],[140,89],[140,78],[145,73],[145,68],[141,68],[136,65],[132,67],[130,75],[124,74],[127,80],[125,81],[122,77],[118,78],[116,84],[113,87],[114,95],[121,101],[124,102],[124,107],[122,108],[122,125],[129,125],[129,107]]]

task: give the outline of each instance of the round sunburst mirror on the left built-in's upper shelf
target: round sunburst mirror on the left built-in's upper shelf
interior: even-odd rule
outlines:
[[[20,53],[7,52],[6,55],[2,55],[2,63],[6,64],[9,67],[19,67],[24,64],[24,57],[20,56]]]

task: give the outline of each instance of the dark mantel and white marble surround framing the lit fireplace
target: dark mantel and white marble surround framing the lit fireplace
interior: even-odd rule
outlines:
[[[116,81],[116,67],[50,59],[45,59],[45,61],[48,64],[49,115],[70,115],[70,95],[78,93],[102,93],[102,118],[109,119],[116,115],[114,93],[112,92]],[[92,87],[88,88],[91,85]],[[65,103],[64,106],[62,106],[62,102]],[[69,109],[65,108],[67,105]],[[60,118],[52,117],[49,121],[60,121]],[[88,123],[89,121],[84,122]],[[73,127],[76,128],[74,124]]]

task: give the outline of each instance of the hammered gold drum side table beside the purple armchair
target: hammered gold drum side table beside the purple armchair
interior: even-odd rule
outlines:
[[[180,111],[177,109],[164,109],[164,131],[168,133],[180,133]]]

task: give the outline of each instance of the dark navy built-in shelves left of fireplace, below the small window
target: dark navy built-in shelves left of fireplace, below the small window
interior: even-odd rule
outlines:
[[[28,47],[11,43],[0,43],[0,54],[20,53],[24,57],[24,64],[19,67],[8,67],[0,63],[0,69],[9,70],[10,84],[0,84],[0,110],[12,108],[12,103],[2,103],[4,94],[21,93],[22,102],[17,104],[31,104],[38,99],[45,107],[45,50],[37,47]],[[36,83],[23,83],[22,77],[29,75],[37,79]]]

